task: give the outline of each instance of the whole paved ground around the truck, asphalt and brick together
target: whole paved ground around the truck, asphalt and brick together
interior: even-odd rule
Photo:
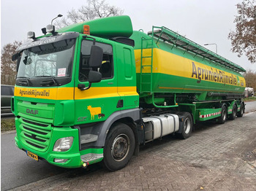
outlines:
[[[255,106],[256,101],[247,102],[246,112],[255,110]],[[241,188],[239,190],[246,190],[244,185],[256,190],[255,124],[256,112],[224,125],[209,122],[197,125],[189,139],[181,141],[166,136],[162,141],[141,147],[139,157],[133,157],[126,168],[113,173],[99,165],[91,165],[86,170],[65,170],[42,161],[37,163],[15,147],[15,133],[4,134],[1,135],[1,190],[15,187],[15,190],[154,190],[157,187],[195,190],[200,185],[214,190],[215,184],[214,188],[222,186],[219,190],[227,190],[232,184]],[[129,181],[131,183],[127,183]],[[19,187],[23,184],[26,185]]]

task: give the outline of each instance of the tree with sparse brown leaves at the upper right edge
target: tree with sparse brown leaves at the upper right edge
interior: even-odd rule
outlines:
[[[252,63],[256,63],[256,4],[255,0],[244,0],[236,5],[238,16],[236,31],[231,31],[228,39],[231,39],[232,51],[240,57],[245,53]]]

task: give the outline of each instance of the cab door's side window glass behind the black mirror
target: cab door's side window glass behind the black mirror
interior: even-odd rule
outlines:
[[[81,82],[88,81],[88,75],[90,71],[89,60],[91,54],[91,46],[93,42],[88,40],[83,40],[81,44],[80,52],[80,66],[79,66],[79,80]],[[101,47],[103,50],[102,66],[99,72],[102,74],[102,79],[113,78],[113,49],[109,44],[96,42],[97,46]]]

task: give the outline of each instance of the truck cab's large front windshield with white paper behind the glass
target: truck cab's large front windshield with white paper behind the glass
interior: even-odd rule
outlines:
[[[42,44],[23,50],[17,78],[70,78],[75,39]]]

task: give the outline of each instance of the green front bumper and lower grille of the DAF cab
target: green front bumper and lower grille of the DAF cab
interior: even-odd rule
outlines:
[[[48,128],[48,134],[50,136],[45,135],[38,139],[39,136],[37,136],[37,134],[40,133],[38,124],[32,124],[31,126],[28,126],[29,123],[24,123],[23,120],[20,120],[18,117],[16,117],[15,125],[17,129],[17,136],[15,136],[16,146],[19,149],[23,149],[24,151],[29,151],[37,155],[39,160],[46,160],[52,165],[57,165],[63,168],[80,168],[84,167],[83,163],[86,163],[87,166],[92,163],[98,163],[103,159],[103,148],[89,148],[83,150],[79,149],[80,142],[78,129],[71,127]],[[36,130],[37,128],[33,129],[33,125],[34,127],[37,126],[38,130]],[[33,132],[35,131],[37,132],[34,133],[36,136],[32,136]],[[54,152],[53,146],[56,141],[67,136],[72,136],[74,138],[70,149],[66,152]],[[35,140],[32,138],[35,138]],[[42,139],[46,139],[47,141],[43,143],[39,143],[39,141],[37,141],[42,141]],[[43,144],[45,148],[40,149],[39,146],[42,146]],[[64,159],[67,161],[64,163],[56,163],[54,162],[54,159]]]

